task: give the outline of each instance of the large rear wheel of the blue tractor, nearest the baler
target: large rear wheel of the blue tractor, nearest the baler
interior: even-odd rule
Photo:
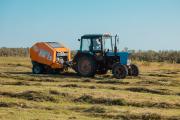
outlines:
[[[77,72],[83,77],[93,77],[96,73],[96,63],[90,56],[82,56],[77,60]]]

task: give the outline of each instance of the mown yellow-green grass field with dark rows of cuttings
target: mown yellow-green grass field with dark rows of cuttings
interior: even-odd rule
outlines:
[[[29,58],[0,57],[0,119],[180,119],[180,64],[137,64],[139,77],[117,80],[33,75]]]

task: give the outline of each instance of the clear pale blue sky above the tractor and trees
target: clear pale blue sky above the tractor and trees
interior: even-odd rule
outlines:
[[[120,49],[180,50],[180,0],[0,0],[0,47],[78,49],[81,35],[107,32]]]

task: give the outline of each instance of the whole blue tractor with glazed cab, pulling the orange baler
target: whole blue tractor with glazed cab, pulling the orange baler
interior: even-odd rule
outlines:
[[[130,53],[118,51],[117,35],[87,34],[79,41],[80,50],[74,56],[73,68],[80,76],[93,77],[95,74],[106,74],[108,70],[118,79],[139,75],[138,67],[128,59]]]

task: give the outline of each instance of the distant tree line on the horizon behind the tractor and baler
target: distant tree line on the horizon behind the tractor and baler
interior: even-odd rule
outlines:
[[[76,51],[72,51],[72,56],[75,55]],[[29,48],[0,48],[0,56],[20,56],[28,57]],[[131,51],[131,59],[137,61],[148,61],[148,62],[170,62],[180,63],[180,51],[167,50],[167,51]]]

